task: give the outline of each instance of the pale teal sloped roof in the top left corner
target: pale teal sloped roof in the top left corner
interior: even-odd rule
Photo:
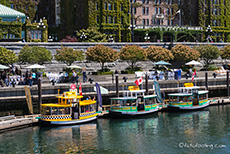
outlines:
[[[24,13],[0,4],[0,17],[17,17],[17,16],[26,17]]]

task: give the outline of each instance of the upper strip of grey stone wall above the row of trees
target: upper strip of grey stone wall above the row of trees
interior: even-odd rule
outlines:
[[[229,43],[202,43],[202,42],[114,42],[114,43],[89,43],[89,42],[47,42],[47,43],[33,43],[33,42],[0,42],[0,46],[5,47],[9,50],[13,50],[15,53],[19,53],[20,49],[25,46],[40,46],[40,47],[45,47],[46,49],[50,50],[52,54],[56,53],[56,49],[60,49],[61,46],[66,46],[69,48],[74,48],[74,49],[80,49],[83,51],[86,51],[89,47],[93,47],[96,44],[102,44],[104,46],[108,46],[112,49],[115,49],[117,51],[120,51],[122,47],[125,45],[139,45],[142,48],[148,48],[150,45],[154,46],[162,46],[164,48],[171,48],[174,47],[176,44],[182,44],[182,45],[187,45],[190,47],[198,46],[198,45],[205,45],[205,44],[212,44],[214,46],[217,46],[218,48],[223,48],[224,46],[228,45]]]

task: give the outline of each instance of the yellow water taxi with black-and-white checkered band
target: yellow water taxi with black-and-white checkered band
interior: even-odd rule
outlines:
[[[81,100],[83,96],[75,91],[65,92],[57,98],[57,103],[41,104],[42,124],[73,125],[97,119],[95,100]]]

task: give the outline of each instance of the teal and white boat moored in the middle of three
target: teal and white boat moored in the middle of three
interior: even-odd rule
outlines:
[[[110,98],[109,115],[114,118],[134,117],[157,112],[157,95],[144,95],[145,90],[124,91],[123,97]]]

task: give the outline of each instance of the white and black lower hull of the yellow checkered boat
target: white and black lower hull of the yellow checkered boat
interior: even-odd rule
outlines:
[[[87,119],[76,119],[76,120],[70,120],[70,121],[44,121],[44,120],[40,120],[39,122],[42,125],[77,125],[77,124],[82,124],[82,123],[87,123],[87,122],[91,122],[97,119],[97,116],[95,117],[91,117],[91,118],[87,118]]]

